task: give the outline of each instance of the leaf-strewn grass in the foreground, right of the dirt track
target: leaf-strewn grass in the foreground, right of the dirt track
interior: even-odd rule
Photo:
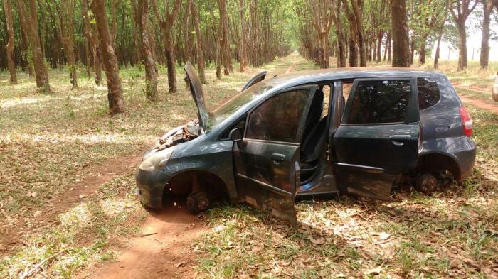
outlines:
[[[331,62],[331,65],[334,65]],[[301,69],[309,65],[303,65]],[[472,91],[483,72],[462,79]],[[314,66],[312,66],[314,67]],[[441,63],[453,80],[455,62]],[[491,78],[488,84],[491,84]],[[489,95],[489,94],[488,94]],[[472,95],[473,96],[473,95]],[[484,99],[484,98],[482,98]],[[488,278],[498,275],[498,115],[467,104],[478,146],[475,172],[439,192],[411,189],[392,202],[341,197],[297,203],[293,228],[245,205],[211,209],[196,241],[202,278]]]

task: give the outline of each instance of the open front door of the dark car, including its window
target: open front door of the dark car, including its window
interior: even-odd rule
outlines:
[[[243,141],[233,146],[240,199],[297,224],[300,142],[316,86],[286,89],[249,112]]]

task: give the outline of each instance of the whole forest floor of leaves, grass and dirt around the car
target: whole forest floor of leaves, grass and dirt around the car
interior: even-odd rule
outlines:
[[[334,61],[331,62],[334,65]],[[383,67],[372,63],[373,67]],[[492,69],[497,65],[493,65]],[[314,68],[298,55],[263,66],[268,76]],[[234,65],[236,69],[236,65]],[[34,80],[0,73],[0,278],[341,278],[498,276],[498,114],[493,70],[456,72],[442,62],[475,123],[475,172],[439,192],[402,189],[392,202],[341,197],[297,203],[292,228],[245,205],[220,204],[199,216],[181,204],[147,212],[135,196],[140,153],[196,115],[179,90],[144,98],[143,71],[121,71],[127,112],[107,115],[107,89],[51,70],[52,94]],[[213,106],[262,69],[216,80]],[[83,70],[81,73],[83,77]]]

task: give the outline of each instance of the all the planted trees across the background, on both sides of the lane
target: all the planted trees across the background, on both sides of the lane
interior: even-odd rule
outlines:
[[[176,90],[176,65],[191,61],[230,75],[290,53],[292,44],[322,68],[364,67],[369,60],[410,67],[425,63],[434,43],[457,41],[459,70],[467,67],[467,18],[482,21],[481,65],[489,57],[489,23],[498,0],[2,0],[0,68],[36,77],[50,91],[47,67],[67,67],[73,88],[78,68],[107,79],[110,112],[124,111],[120,67],[140,63],[147,98],[157,101],[157,65]],[[479,7],[475,12],[476,7]]]

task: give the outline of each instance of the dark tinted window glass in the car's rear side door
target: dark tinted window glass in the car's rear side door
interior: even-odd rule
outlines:
[[[410,102],[409,80],[358,82],[348,124],[380,124],[405,121]]]

